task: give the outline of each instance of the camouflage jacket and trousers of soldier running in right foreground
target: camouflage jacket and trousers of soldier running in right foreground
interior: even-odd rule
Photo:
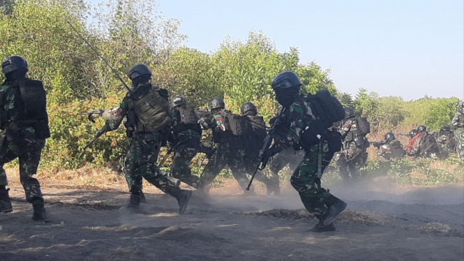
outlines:
[[[306,126],[315,124],[316,117],[310,110],[310,103],[307,100],[299,102],[294,100],[283,116],[283,128],[279,134],[283,139],[276,144],[276,152],[288,149],[299,144],[301,139],[301,130]],[[285,128],[290,126],[290,128]],[[297,170],[292,174],[290,184],[298,191],[301,202],[304,207],[316,216],[327,214],[327,206],[330,205],[331,199],[334,198],[329,191],[320,187],[320,178],[317,178],[317,145],[310,148],[304,148],[306,154],[303,161],[298,165]],[[333,153],[329,152],[327,141],[322,145],[322,169],[329,165]]]

